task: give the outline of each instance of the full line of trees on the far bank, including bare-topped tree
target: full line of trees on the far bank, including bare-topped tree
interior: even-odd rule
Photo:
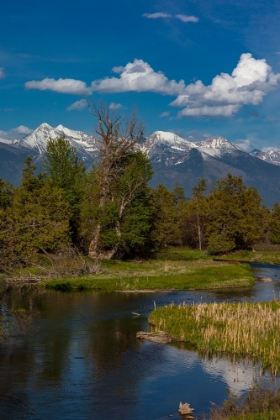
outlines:
[[[42,252],[76,249],[91,258],[148,256],[166,246],[219,254],[280,243],[280,204],[262,204],[254,187],[228,174],[207,185],[200,179],[186,198],[180,185],[152,189],[151,163],[137,148],[143,126],[107,107],[97,118],[100,159],[86,171],[64,138],[50,139],[39,174],[32,158],[13,187],[0,179],[0,269],[28,264]]]

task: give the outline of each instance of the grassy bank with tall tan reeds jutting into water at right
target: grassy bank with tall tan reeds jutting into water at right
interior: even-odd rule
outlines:
[[[156,309],[149,322],[175,340],[205,354],[227,353],[280,370],[280,301],[171,305]]]

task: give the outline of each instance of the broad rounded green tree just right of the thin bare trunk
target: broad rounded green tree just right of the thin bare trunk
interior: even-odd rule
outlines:
[[[211,254],[250,247],[264,236],[268,210],[257,190],[246,187],[241,177],[228,174],[219,180],[207,202],[206,235]]]

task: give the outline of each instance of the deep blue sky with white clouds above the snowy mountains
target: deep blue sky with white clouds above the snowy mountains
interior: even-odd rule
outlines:
[[[94,134],[88,104],[145,134],[280,149],[279,0],[2,0],[0,138]]]

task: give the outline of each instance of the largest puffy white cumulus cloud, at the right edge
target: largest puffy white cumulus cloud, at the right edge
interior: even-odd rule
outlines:
[[[221,73],[211,85],[201,80],[186,86],[184,93],[171,103],[186,108],[180,116],[230,117],[246,104],[258,105],[264,96],[277,87],[280,73],[273,73],[264,59],[242,54],[232,74]]]

